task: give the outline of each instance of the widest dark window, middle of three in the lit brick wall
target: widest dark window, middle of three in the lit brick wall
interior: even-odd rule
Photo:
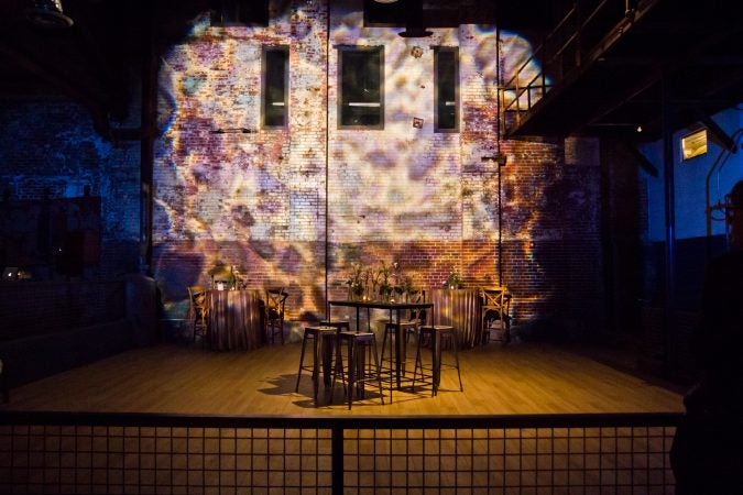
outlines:
[[[339,48],[339,128],[384,128],[383,67],[381,46]]]

